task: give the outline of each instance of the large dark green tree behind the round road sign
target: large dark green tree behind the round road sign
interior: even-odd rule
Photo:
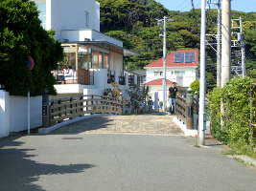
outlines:
[[[46,32],[38,19],[35,3],[29,0],[0,2],[0,84],[11,95],[33,96],[46,89],[55,92],[51,71],[62,59],[60,43],[54,32]],[[35,60],[35,68],[27,66],[27,57]]]

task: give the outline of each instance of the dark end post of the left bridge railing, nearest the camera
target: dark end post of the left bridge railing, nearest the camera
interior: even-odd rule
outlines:
[[[50,96],[42,96],[42,123],[43,127],[49,127],[51,125],[50,114]]]

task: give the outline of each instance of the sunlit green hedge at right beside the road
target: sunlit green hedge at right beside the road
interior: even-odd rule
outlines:
[[[209,93],[212,134],[228,144],[250,144],[250,87],[252,79],[233,78],[223,89]],[[224,115],[221,115],[221,100]],[[222,119],[222,128],[221,128]]]

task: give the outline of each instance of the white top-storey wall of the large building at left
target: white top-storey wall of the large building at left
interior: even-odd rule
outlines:
[[[100,4],[95,0],[34,0],[46,2],[46,30],[93,29],[100,31]],[[85,25],[85,11],[89,12],[89,25]]]

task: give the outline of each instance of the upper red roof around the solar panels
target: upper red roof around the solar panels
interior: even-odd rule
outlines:
[[[175,53],[188,53],[188,52],[194,52],[196,53],[196,61],[191,63],[175,63]],[[198,59],[198,50],[197,49],[188,49],[188,50],[178,50],[173,53],[169,53],[167,55],[167,67],[197,67],[199,63]],[[155,60],[151,62],[150,64],[146,65],[145,67],[151,68],[151,67],[163,67],[163,58],[160,58],[158,60]]]

